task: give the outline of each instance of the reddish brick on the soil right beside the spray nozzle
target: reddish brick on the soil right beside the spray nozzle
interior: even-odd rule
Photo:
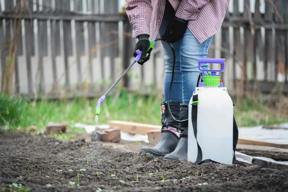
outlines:
[[[121,140],[120,129],[118,127],[109,129],[99,129],[97,134],[103,142],[119,142]]]

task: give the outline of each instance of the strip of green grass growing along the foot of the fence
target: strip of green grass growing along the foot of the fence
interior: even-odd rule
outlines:
[[[94,111],[97,99],[86,100],[77,98],[74,100],[28,102],[24,99],[14,99],[6,95],[0,96],[0,126],[5,130],[28,128],[36,126],[45,128],[49,121],[66,121],[72,133],[79,132],[73,128],[74,123],[93,125]],[[135,121],[161,125],[160,104],[162,98],[156,96],[137,96],[122,91],[119,98],[107,97],[101,105],[99,124],[106,124],[110,120]],[[288,121],[287,117],[281,117],[264,104],[253,100],[245,100],[237,104],[234,109],[238,126],[256,126],[261,124],[275,124]],[[63,134],[60,137],[69,139],[72,136]]]

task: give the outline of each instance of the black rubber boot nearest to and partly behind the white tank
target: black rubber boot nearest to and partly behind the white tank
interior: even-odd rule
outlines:
[[[181,104],[180,108],[180,120],[188,119],[188,105]],[[179,130],[181,130],[180,140],[176,149],[163,157],[163,159],[169,159],[178,161],[184,159],[187,161],[187,148],[188,148],[188,120],[179,123]]]

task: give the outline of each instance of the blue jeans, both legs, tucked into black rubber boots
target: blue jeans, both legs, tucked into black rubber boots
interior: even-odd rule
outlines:
[[[173,18],[174,14],[175,11],[173,7],[166,1],[163,20],[159,29],[160,37],[164,35],[167,24],[170,19]],[[200,73],[198,69],[198,58],[207,57],[212,37],[209,37],[201,44],[187,28],[183,39],[172,43],[175,49],[176,63],[170,100],[182,101],[183,104],[189,103]],[[166,60],[164,73],[164,101],[167,101],[168,90],[172,78],[173,53],[168,43],[164,41],[161,42],[165,53],[164,59]],[[208,69],[208,64],[202,64],[201,68]]]

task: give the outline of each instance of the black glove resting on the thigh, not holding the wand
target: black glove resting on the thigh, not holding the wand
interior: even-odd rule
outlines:
[[[165,34],[162,36],[163,39],[170,43],[174,43],[183,38],[186,31],[188,21],[174,17],[166,28]]]

